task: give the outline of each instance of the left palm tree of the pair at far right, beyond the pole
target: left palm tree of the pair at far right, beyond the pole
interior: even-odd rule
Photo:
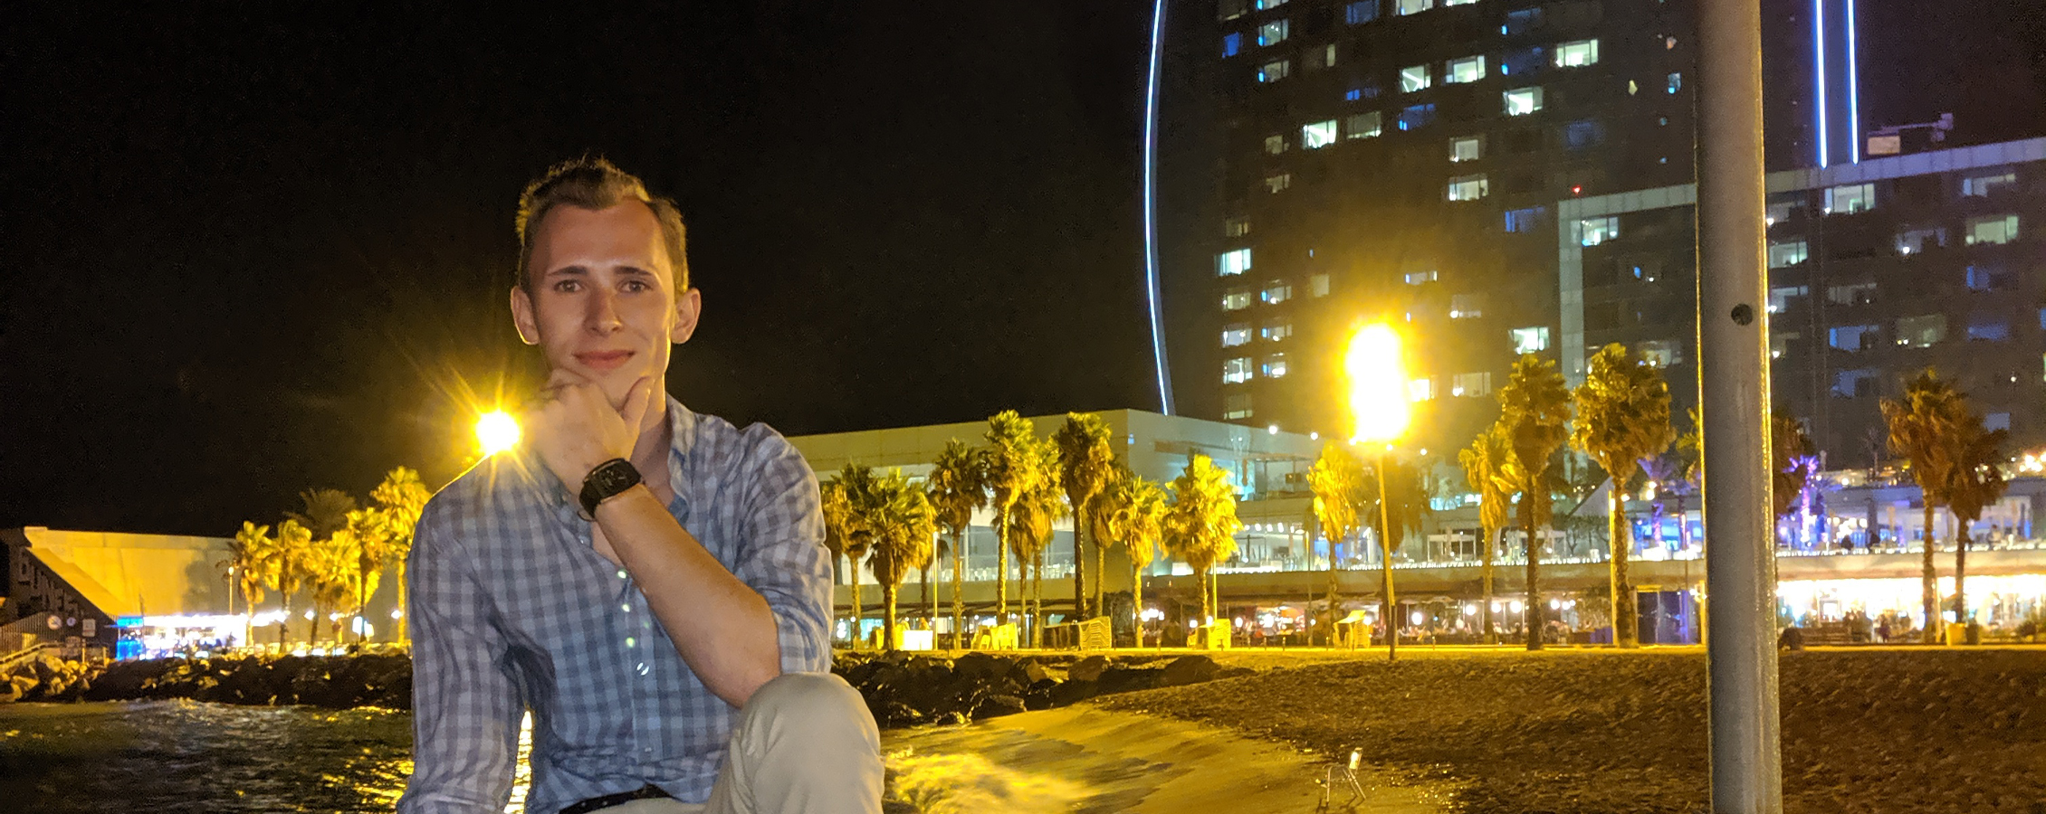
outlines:
[[[1911,479],[1917,481],[1925,503],[1925,560],[1921,564],[1919,587],[1925,603],[1927,644],[1940,642],[1940,573],[1933,564],[1933,509],[1946,503],[1946,487],[1954,479],[1956,440],[1966,421],[1966,405],[1960,391],[1938,372],[1927,368],[1905,385],[1905,397],[1882,399],[1882,421],[1891,427],[1891,454],[1909,460]]]

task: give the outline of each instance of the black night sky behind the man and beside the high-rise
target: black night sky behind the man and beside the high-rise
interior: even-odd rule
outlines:
[[[694,409],[794,436],[1158,407],[1148,2],[243,6],[8,4],[0,528],[227,536],[454,477],[475,409],[540,378],[518,190],[585,151],[681,202]],[[2042,135],[2034,0],[1868,6],[1872,119]]]

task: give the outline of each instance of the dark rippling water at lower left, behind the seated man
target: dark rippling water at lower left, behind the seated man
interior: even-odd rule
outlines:
[[[526,738],[514,806],[526,796]],[[0,810],[391,812],[411,714],[198,702],[0,706]]]

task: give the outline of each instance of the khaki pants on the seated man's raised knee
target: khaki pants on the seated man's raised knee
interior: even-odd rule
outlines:
[[[634,800],[602,814],[880,814],[880,730],[845,679],[784,673],[739,716],[708,804]]]

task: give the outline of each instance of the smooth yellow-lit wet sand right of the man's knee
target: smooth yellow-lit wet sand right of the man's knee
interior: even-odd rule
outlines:
[[[1250,740],[1213,726],[1091,704],[1025,712],[970,726],[882,734],[896,798],[923,814],[1314,812],[1320,755]],[[1395,783],[1365,767],[1365,798],[1350,806],[1340,779],[1330,810],[1359,814],[1449,812],[1451,785]]]

